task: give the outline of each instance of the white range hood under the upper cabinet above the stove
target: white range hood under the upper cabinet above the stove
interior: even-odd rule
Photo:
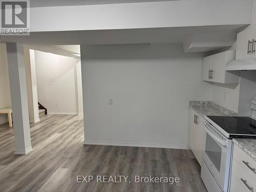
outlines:
[[[229,62],[226,71],[256,70],[256,58],[236,59]]]

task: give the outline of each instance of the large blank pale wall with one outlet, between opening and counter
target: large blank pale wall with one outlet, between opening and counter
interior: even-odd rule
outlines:
[[[85,144],[188,148],[189,100],[211,100],[201,54],[181,45],[81,46],[81,67]]]

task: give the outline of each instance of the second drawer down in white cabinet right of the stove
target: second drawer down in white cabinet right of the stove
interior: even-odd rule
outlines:
[[[233,159],[232,161],[232,175],[238,179],[240,184],[244,187],[247,188],[247,191],[250,191],[248,188],[252,187],[253,190],[251,191],[256,191],[256,181],[246,172],[246,170],[238,163],[236,159]],[[244,182],[242,182],[242,179]],[[247,184],[247,186],[246,186]],[[231,184],[232,186],[233,184]]]

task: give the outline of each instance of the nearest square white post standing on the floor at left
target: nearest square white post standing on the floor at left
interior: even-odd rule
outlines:
[[[8,70],[13,112],[14,154],[26,155],[32,150],[25,72],[24,48],[7,43]]]

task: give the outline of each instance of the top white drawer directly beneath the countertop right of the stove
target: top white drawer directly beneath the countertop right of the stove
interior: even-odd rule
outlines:
[[[243,150],[241,150],[241,148],[239,148],[239,146],[237,146],[236,144],[234,144],[234,148],[233,148],[233,159],[237,160],[240,166],[244,168],[244,170],[255,180],[255,183],[256,183],[256,172],[253,172],[249,168],[249,167],[256,168],[256,161],[252,159]],[[248,164],[246,165],[246,163]]]

